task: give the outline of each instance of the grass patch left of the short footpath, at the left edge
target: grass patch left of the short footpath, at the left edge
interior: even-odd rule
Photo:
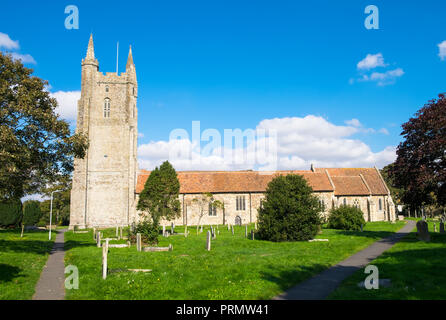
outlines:
[[[53,247],[48,231],[0,230],[0,300],[31,299]]]

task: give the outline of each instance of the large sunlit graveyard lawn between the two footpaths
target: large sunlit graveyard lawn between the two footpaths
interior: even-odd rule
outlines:
[[[329,242],[272,243],[244,238],[244,227],[233,236],[219,226],[220,235],[205,250],[206,228],[188,238],[160,237],[159,246],[172,252],[137,252],[135,246],[110,248],[109,269],[152,269],[150,273],[112,272],[102,279],[102,249],[92,232],[65,234],[66,265],[79,268],[79,289],[67,290],[67,299],[270,299],[293,285],[366,248],[401,228],[404,223],[368,223],[364,232],[324,229],[317,238]],[[177,227],[177,232],[182,232]],[[249,228],[250,230],[250,228]],[[114,229],[104,237],[115,235]],[[121,241],[122,242],[122,241]]]

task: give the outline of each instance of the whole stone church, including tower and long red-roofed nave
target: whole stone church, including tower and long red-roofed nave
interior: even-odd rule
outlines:
[[[75,159],[70,228],[128,226],[140,219],[139,194],[150,175],[138,170],[138,83],[130,48],[122,74],[99,71],[93,37],[82,60],[82,89],[76,132],[89,139],[84,159]],[[302,175],[319,198],[325,216],[340,205],[360,208],[366,221],[394,221],[395,206],[375,168],[315,168],[293,171],[184,171],[180,181],[181,217],[176,225],[246,224],[257,221],[268,183],[278,175]],[[205,214],[193,201],[212,193],[224,209]],[[167,224],[167,221],[163,223]]]

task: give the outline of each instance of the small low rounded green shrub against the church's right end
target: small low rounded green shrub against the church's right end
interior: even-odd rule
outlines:
[[[330,211],[328,217],[328,228],[340,230],[361,230],[361,225],[365,225],[364,213],[361,209],[342,205]]]

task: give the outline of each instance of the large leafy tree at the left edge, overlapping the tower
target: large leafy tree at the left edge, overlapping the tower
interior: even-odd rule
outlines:
[[[20,61],[0,52],[0,200],[38,193],[67,177],[87,139],[59,119],[48,85]]]

